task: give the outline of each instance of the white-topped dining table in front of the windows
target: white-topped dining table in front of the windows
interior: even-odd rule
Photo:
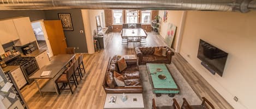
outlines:
[[[122,37],[127,37],[128,42],[140,42],[142,37],[146,37],[144,29],[142,28],[124,28],[122,30]]]

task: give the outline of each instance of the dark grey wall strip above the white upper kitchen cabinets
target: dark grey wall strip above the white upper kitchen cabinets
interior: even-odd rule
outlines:
[[[0,11],[0,15],[0,19],[20,16],[29,17],[31,22],[45,19],[43,10]]]

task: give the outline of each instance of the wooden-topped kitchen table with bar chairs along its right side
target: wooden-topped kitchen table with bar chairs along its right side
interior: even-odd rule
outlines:
[[[76,56],[76,54],[59,54],[53,56],[50,59],[49,65],[42,67],[29,77],[30,79],[34,79],[41,96],[43,96],[42,92],[56,92],[57,95],[59,95],[55,81],[62,75],[67,69],[69,62],[72,62]],[[50,71],[51,73],[46,76],[41,76],[45,71]],[[47,82],[40,86],[38,82],[40,79],[47,79]]]

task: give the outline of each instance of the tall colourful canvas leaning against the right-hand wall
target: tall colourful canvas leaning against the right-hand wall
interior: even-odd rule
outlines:
[[[167,33],[166,33],[166,36],[165,36],[165,42],[169,47],[172,46],[172,42],[174,41],[176,28],[177,28],[176,25],[174,25],[172,23],[168,24]]]

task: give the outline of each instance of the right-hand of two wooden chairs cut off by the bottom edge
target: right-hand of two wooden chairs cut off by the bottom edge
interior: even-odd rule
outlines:
[[[203,97],[201,105],[189,105],[187,100],[183,98],[181,109],[215,109],[215,107],[205,97]]]

